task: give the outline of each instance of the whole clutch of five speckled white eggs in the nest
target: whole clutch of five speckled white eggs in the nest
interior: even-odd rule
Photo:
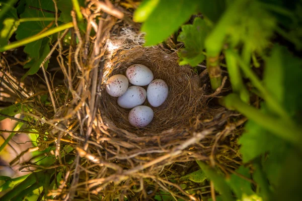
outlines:
[[[107,81],[108,94],[118,97],[117,104],[121,108],[132,109],[128,120],[136,128],[146,127],[153,120],[153,110],[147,106],[141,106],[146,98],[151,106],[159,107],[168,97],[167,83],[162,79],[153,79],[154,75],[148,67],[132,64],[127,68],[126,76],[113,75]],[[135,86],[128,88],[128,82]],[[148,85],[147,91],[141,87],[145,85]]]

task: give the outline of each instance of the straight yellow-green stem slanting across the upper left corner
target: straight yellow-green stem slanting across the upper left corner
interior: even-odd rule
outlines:
[[[13,43],[11,43],[9,45],[0,47],[0,52],[4,52],[4,51],[10,50],[10,49],[14,49],[14,48],[20,47],[22,45],[26,45],[28,43],[31,43],[31,42],[36,41],[36,40],[39,40],[39,39],[44,38],[46,36],[50,36],[52,34],[55,34],[57,32],[63,31],[65,29],[69,29],[71,27],[73,27],[72,22],[60,25],[59,27],[55,27],[55,28],[52,28],[52,29],[50,29],[48,31],[45,31],[42,34],[37,34],[37,35],[34,35],[34,36],[30,36],[30,37],[22,39],[20,41],[16,41],[16,42],[13,42]]]

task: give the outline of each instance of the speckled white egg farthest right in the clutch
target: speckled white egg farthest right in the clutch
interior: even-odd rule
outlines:
[[[169,88],[162,79],[153,80],[147,88],[147,98],[150,105],[159,107],[168,97]]]

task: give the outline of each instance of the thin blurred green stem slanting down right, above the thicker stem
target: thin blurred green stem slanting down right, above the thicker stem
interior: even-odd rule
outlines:
[[[229,54],[233,55],[239,62],[241,69],[250,78],[254,86],[260,91],[261,96],[266,100],[268,107],[271,108],[276,114],[282,117],[284,120],[288,121],[290,118],[282,108],[282,106],[275,100],[271,93],[264,87],[263,83],[259,80],[257,75],[252,71],[252,69],[246,65],[246,63],[233,51]]]

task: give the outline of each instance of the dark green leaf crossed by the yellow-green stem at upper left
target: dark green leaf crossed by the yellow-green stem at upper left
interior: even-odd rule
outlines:
[[[39,0],[27,0],[27,5],[25,8],[24,13],[22,13],[20,16],[21,18],[35,18],[35,17],[39,17],[39,18],[50,18],[50,17],[54,17],[54,14],[51,13],[47,13],[47,12],[43,12],[40,10],[36,10],[36,9],[32,9],[29,8],[29,6],[31,7],[35,7],[35,8],[41,8],[44,10],[48,10],[48,11],[52,11],[54,12],[54,4],[52,1],[39,1]],[[42,30],[44,30],[50,23],[49,21],[35,21],[35,22],[24,22],[21,23],[16,31],[16,38],[18,40],[36,35],[38,33],[40,33]],[[53,25],[51,25],[48,28],[53,27]],[[37,40],[34,42],[31,42],[27,45],[25,45],[24,48],[24,52],[26,52],[31,58],[34,59],[38,59],[40,57],[39,55],[39,50],[41,48],[42,45],[42,40]]]

